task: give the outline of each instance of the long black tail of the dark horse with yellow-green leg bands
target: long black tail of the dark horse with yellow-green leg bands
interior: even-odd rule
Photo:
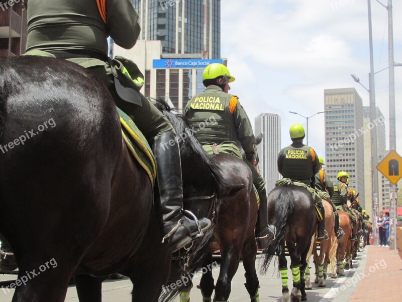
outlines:
[[[276,227],[276,237],[271,240],[268,247],[263,251],[265,254],[264,262],[261,266],[261,273],[265,274],[276,251],[282,242],[289,216],[294,209],[294,194],[288,186],[279,186],[276,190],[281,190],[276,201],[272,224]],[[269,194],[271,195],[271,193]],[[269,197],[269,196],[268,196]]]

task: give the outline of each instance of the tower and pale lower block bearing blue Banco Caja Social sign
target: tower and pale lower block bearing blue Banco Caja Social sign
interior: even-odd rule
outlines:
[[[138,63],[146,97],[162,98],[182,113],[188,100],[205,89],[204,68],[216,62],[226,65],[220,58],[221,1],[132,3],[140,16],[140,40],[128,51],[113,45],[113,54]]]

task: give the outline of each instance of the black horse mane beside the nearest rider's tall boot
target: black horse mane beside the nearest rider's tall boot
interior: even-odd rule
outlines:
[[[180,137],[182,133],[186,135],[185,139],[181,140],[183,143],[180,143],[180,156],[182,158],[191,158],[192,160],[198,159],[202,168],[210,172],[214,178],[215,192],[217,192],[218,195],[223,194],[224,188],[230,187],[231,185],[227,183],[218,163],[205,152],[198,139],[192,134],[192,125],[189,119],[182,114],[173,113],[169,104],[162,99],[152,99],[151,101],[169,120],[178,137]]]

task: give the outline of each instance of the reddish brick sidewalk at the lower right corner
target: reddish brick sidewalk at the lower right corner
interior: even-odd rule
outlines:
[[[389,247],[367,246],[364,275],[349,301],[401,301],[402,260]]]

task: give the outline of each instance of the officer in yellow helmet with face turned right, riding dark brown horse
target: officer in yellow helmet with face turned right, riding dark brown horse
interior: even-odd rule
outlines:
[[[191,98],[184,110],[184,115],[193,126],[205,119],[214,123],[195,133],[195,137],[203,144],[218,144],[221,152],[237,155],[242,158],[236,141],[244,149],[244,162],[253,174],[253,184],[257,189],[260,206],[258,209],[255,236],[258,248],[265,248],[269,239],[275,236],[275,226],[268,225],[267,193],[265,181],[257,172],[257,149],[250,120],[239,102],[238,97],[228,94],[229,83],[235,81],[229,69],[220,63],[208,65],[203,72],[204,92]]]

